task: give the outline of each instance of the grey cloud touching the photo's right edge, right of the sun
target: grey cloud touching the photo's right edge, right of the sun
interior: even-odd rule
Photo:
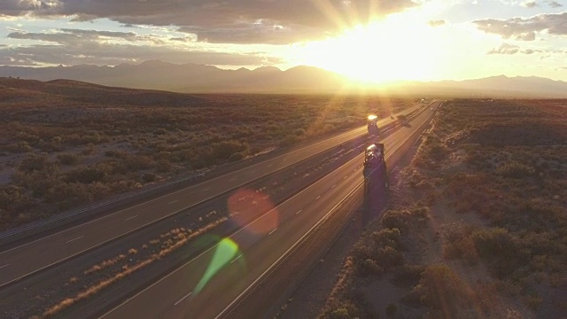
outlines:
[[[536,33],[541,31],[550,35],[567,35],[567,12],[539,14],[527,19],[479,19],[473,23],[480,30],[505,39],[533,41]]]

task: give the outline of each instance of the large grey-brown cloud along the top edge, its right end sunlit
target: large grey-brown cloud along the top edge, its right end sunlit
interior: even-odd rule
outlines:
[[[417,5],[414,0],[3,0],[0,14],[177,26],[211,43],[291,43],[321,38]]]

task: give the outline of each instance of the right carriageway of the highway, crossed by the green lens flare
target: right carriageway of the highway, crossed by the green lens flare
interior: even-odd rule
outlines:
[[[434,107],[439,104],[436,102]],[[432,113],[428,111],[382,141],[387,160],[391,160],[418,128],[431,120]],[[338,212],[341,203],[353,192],[360,191],[362,161],[363,154],[360,154],[102,317],[217,318],[227,315],[279,261],[289,257],[311,230],[324,225]],[[267,229],[266,225],[271,227]],[[289,282],[293,279],[289,278]],[[284,287],[279,288],[281,290],[276,292],[284,291]],[[269,305],[273,301],[256,303]],[[260,309],[251,311],[249,314],[257,317],[263,315]]]

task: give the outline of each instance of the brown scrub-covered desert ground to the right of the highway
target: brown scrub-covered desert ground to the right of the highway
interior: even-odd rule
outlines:
[[[356,243],[339,240],[324,260],[334,264],[323,261],[280,317],[561,318],[565,110],[557,100],[444,105],[392,174],[382,217],[358,241],[349,227]]]

